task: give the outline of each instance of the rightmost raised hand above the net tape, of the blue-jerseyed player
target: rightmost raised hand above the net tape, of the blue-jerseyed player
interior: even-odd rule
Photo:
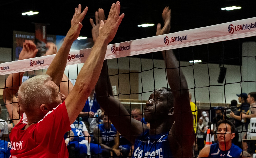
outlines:
[[[161,24],[160,23],[157,24],[156,36],[170,33],[170,29],[171,29],[171,10],[170,10],[169,7],[165,7],[165,9],[163,9],[162,18],[163,18],[163,21],[164,21],[164,26],[161,29]]]

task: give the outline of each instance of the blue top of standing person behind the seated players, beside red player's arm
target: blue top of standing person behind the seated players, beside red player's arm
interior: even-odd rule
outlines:
[[[93,98],[88,98],[86,103],[85,103],[85,106],[82,110],[82,112],[97,112],[98,109],[100,109],[100,106],[96,100],[96,94],[94,93],[94,96]],[[82,118],[82,121],[87,121],[88,122],[88,117],[83,117]]]

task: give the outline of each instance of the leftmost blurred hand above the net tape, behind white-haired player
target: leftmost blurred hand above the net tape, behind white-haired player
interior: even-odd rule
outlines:
[[[19,54],[19,60],[34,58],[37,52],[38,49],[36,49],[34,42],[32,40],[25,40],[21,53]]]

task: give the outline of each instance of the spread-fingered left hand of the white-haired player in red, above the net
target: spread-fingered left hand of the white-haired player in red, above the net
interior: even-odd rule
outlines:
[[[84,11],[81,13],[82,6],[81,4],[78,5],[78,8],[75,8],[75,13],[73,15],[73,18],[71,20],[71,28],[69,29],[67,36],[69,36],[70,40],[76,40],[80,34],[81,28],[82,28],[82,20],[84,19],[88,7],[85,7]]]

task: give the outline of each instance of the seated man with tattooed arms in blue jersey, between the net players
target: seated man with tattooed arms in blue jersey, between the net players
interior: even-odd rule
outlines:
[[[119,132],[111,124],[107,115],[103,115],[103,124],[94,128],[94,140],[102,148],[102,156],[120,156]]]

